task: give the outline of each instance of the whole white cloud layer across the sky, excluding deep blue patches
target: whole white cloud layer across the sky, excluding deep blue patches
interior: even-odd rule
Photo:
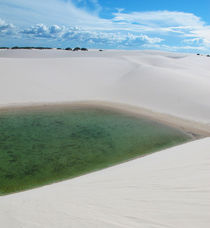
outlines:
[[[3,0],[0,41],[53,41],[62,45],[68,42],[93,48],[210,50],[210,26],[192,13],[118,10],[105,19],[99,16],[102,7],[97,0],[46,0],[42,1],[41,9],[40,4],[41,0],[11,0],[10,4]],[[87,9],[91,4],[92,8]],[[16,14],[20,16],[14,20],[11,15]]]

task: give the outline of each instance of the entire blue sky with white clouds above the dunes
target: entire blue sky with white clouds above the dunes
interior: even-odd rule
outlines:
[[[209,0],[0,0],[0,46],[210,52]]]

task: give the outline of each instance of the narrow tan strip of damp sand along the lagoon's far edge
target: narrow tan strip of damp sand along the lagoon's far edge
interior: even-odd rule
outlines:
[[[137,107],[129,104],[115,103],[109,101],[75,101],[75,102],[43,102],[43,103],[25,103],[0,106],[1,113],[10,111],[43,111],[56,109],[74,109],[74,108],[100,108],[127,114],[134,117],[144,117],[155,122],[165,124],[169,127],[177,128],[193,139],[200,139],[210,136],[210,126],[204,123],[195,122],[192,120],[183,119],[166,113],[158,113],[152,110]]]

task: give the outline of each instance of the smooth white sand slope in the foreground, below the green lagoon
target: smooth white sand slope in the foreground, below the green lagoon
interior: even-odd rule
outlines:
[[[15,228],[208,228],[210,138],[109,169],[0,197]]]

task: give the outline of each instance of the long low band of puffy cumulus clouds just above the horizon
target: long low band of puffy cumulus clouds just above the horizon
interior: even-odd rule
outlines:
[[[70,26],[47,26],[37,24],[30,28],[20,31],[25,37],[39,39],[54,39],[60,41],[75,41],[78,43],[86,42],[91,44],[106,44],[121,46],[140,45],[142,43],[160,43],[163,39],[158,37],[149,37],[143,34],[132,34],[123,32],[92,31],[81,27]]]

